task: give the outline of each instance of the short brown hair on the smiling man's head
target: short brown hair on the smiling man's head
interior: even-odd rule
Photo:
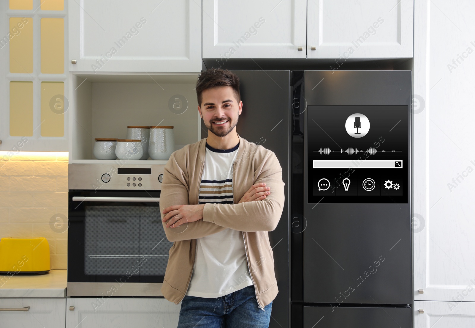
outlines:
[[[203,100],[202,93],[204,90],[220,86],[231,87],[234,91],[234,96],[236,97],[237,102],[241,101],[241,94],[239,93],[239,77],[229,70],[209,69],[203,71],[196,82],[198,105],[201,106],[201,101]]]

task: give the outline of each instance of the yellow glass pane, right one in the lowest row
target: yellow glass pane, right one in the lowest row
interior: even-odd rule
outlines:
[[[42,137],[64,136],[64,112],[64,82],[41,82]]]

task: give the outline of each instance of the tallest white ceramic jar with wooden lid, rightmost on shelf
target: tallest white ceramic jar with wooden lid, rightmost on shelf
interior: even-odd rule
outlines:
[[[173,127],[151,126],[149,154],[152,159],[168,160],[175,151],[175,139]]]

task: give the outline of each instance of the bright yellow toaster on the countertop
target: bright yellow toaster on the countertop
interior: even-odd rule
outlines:
[[[46,238],[0,239],[0,272],[45,274],[49,270],[49,244]]]

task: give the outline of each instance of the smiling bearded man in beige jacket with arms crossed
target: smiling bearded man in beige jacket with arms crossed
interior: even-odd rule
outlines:
[[[282,168],[236,132],[236,74],[206,70],[196,85],[208,138],[173,152],[164,168],[160,209],[173,246],[161,292],[181,301],[179,328],[268,327],[278,293],[268,231],[282,215]]]

